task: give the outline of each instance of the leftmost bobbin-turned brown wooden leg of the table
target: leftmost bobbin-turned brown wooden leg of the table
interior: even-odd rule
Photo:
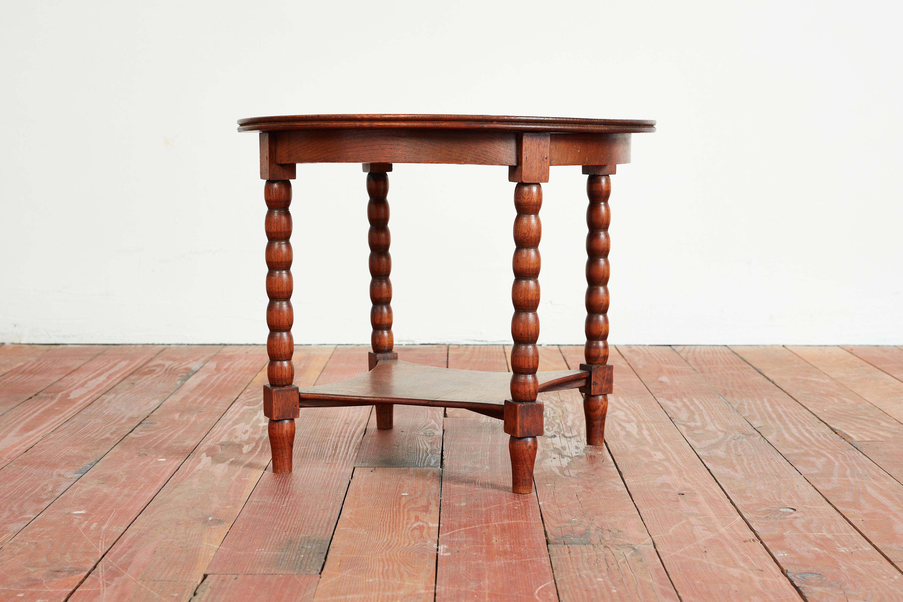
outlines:
[[[261,140],[263,136],[261,134]],[[271,136],[269,136],[271,137]],[[261,142],[263,148],[263,142]],[[263,165],[263,159],[261,159]],[[292,472],[292,446],[294,444],[294,418],[297,412],[289,412],[291,399],[297,394],[297,387],[293,386],[294,366],[292,355],[294,352],[294,340],[292,338],[292,325],[294,311],[292,309],[292,214],[289,206],[292,204],[292,182],[288,180],[267,180],[264,185],[264,199],[266,200],[266,296],[269,303],[266,306],[266,325],[270,329],[270,335],[266,338],[266,354],[269,357],[269,365],[266,366],[266,376],[271,390],[265,392],[271,400],[270,411],[274,408],[273,388],[287,388],[291,392],[276,394],[279,400],[279,413],[265,414],[270,421],[269,437],[270,449],[273,451],[273,471]],[[265,405],[266,408],[266,405]],[[291,415],[290,415],[291,414]],[[292,421],[288,425],[285,421]]]

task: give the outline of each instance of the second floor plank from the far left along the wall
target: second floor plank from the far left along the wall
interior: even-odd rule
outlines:
[[[102,345],[54,347],[0,376],[0,414],[107,350]]]

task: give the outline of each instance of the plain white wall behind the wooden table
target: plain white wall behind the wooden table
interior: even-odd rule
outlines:
[[[903,343],[896,2],[12,3],[0,340],[263,342],[236,119],[647,118],[612,178],[615,343]],[[507,341],[507,168],[390,174],[397,342]],[[585,178],[553,168],[544,343],[581,343]],[[369,340],[357,164],[294,181],[295,340]]]

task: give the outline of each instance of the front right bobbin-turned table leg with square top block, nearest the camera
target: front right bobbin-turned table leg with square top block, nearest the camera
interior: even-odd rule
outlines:
[[[543,404],[536,402],[539,392],[539,239],[543,227],[539,208],[543,205],[543,187],[549,181],[549,135],[522,134],[518,140],[518,164],[508,171],[508,180],[516,181],[514,205],[514,284],[511,301],[511,399],[505,402],[505,432],[511,435],[511,488],[516,494],[533,491],[533,467],[536,436],[543,434]]]

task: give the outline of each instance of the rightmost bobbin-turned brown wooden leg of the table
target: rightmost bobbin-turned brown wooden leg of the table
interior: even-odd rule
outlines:
[[[610,174],[614,165],[587,165],[586,194],[590,205],[586,209],[586,346],[582,370],[591,373],[590,382],[583,389],[583,415],[586,418],[586,442],[602,445],[605,442],[605,414],[609,408],[611,372],[609,366],[609,195]]]

